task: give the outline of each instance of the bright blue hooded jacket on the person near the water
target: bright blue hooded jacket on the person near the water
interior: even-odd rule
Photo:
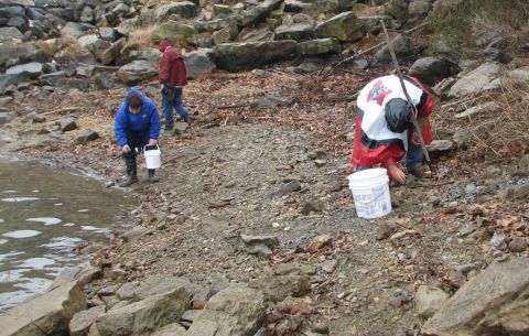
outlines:
[[[129,105],[127,102],[128,98],[132,95],[140,96],[143,102],[141,111],[137,115],[129,111]],[[128,91],[114,120],[114,132],[118,144],[120,147],[127,144],[127,132],[130,131],[147,131],[149,139],[158,139],[160,137],[160,116],[158,115],[154,102],[137,88]]]

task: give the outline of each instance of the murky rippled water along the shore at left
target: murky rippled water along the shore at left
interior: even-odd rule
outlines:
[[[45,291],[63,268],[87,263],[73,248],[104,241],[130,204],[100,181],[0,160],[0,313]]]

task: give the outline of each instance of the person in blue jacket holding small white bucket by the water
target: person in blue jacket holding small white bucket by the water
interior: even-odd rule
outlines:
[[[160,116],[154,102],[137,88],[129,90],[114,121],[116,141],[123,153],[128,176],[120,186],[138,182],[136,156],[144,145],[158,144],[160,129]],[[158,181],[154,171],[148,170],[150,182]]]

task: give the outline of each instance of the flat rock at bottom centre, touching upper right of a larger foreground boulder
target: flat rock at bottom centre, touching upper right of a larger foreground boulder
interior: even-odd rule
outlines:
[[[311,292],[311,280],[306,275],[270,275],[251,279],[250,289],[258,289],[272,302],[281,302],[288,296],[301,297]]]

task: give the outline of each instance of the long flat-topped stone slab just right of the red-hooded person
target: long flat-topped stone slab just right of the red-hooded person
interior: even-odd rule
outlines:
[[[291,58],[295,55],[295,41],[225,43],[215,45],[215,64],[226,71],[251,69],[260,65]]]

